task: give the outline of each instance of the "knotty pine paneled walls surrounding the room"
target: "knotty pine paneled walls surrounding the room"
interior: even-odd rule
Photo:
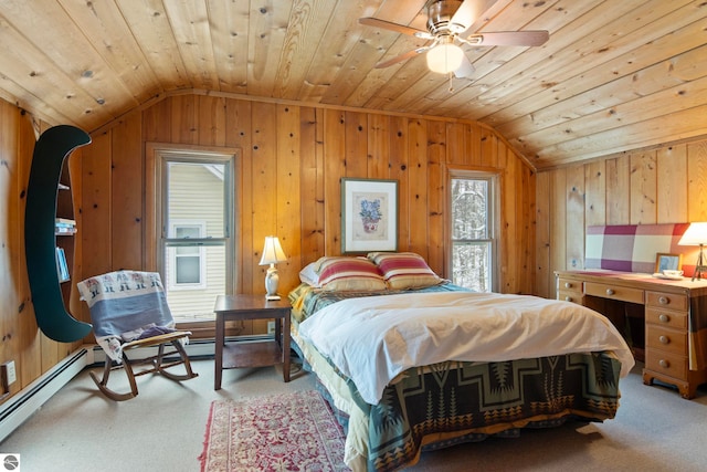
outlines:
[[[46,124],[34,125],[39,128]],[[493,130],[473,122],[309,107],[205,94],[136,112],[70,158],[81,231],[75,280],[145,266],[145,145],[241,149],[239,290],[263,290],[263,238],[281,237],[283,290],[304,264],[340,253],[341,177],[400,182],[399,247],[445,274],[449,169],[500,175],[500,291],[555,296],[552,271],[583,266],[589,224],[707,221],[707,141],[625,154],[535,175]],[[29,116],[0,101],[0,363],[19,391],[81,342],[36,328],[24,266],[24,192],[34,147]],[[537,190],[536,190],[537,189]],[[77,306],[78,305],[78,306]],[[81,303],[72,313],[88,319]],[[92,340],[92,339],[88,339]]]

